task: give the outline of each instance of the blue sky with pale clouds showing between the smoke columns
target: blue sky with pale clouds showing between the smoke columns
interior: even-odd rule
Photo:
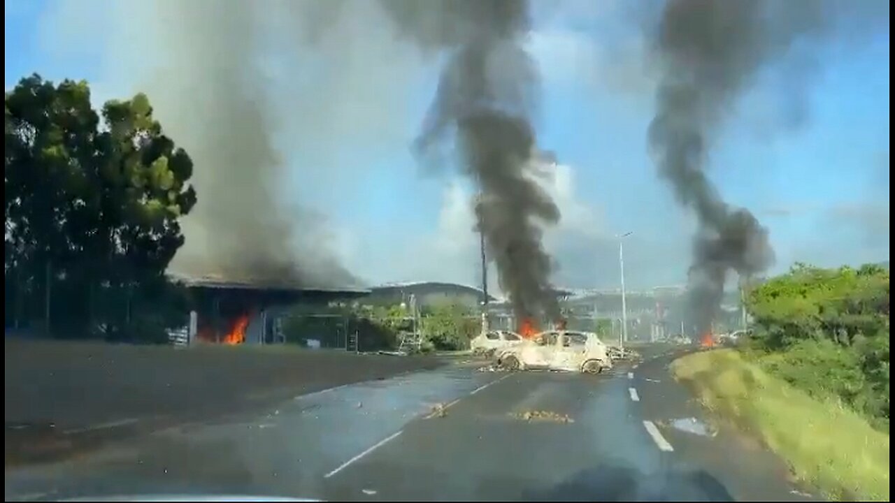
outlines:
[[[71,5],[6,2],[7,89],[30,72],[53,80],[87,79],[108,98],[139,89],[109,64],[115,47],[104,44],[115,42],[90,33],[103,31],[107,21],[97,19],[93,26],[90,18],[60,18]],[[611,235],[633,230],[636,239],[626,249],[632,284],[678,283],[686,271],[689,227],[647,155],[649,68],[638,57],[643,53],[631,30],[607,20],[612,18],[544,17],[533,34],[531,49],[543,73],[541,146],[570,168],[572,190],[558,197],[580,216],[550,238],[548,248],[559,262],[558,282],[612,286],[617,274]],[[85,38],[65,38],[55,30],[88,32],[92,38],[86,39],[97,47],[60,50],[64,40],[78,40],[72,42],[77,45]],[[819,49],[816,60],[818,71],[797,97],[780,91],[787,87],[787,73],[771,68],[740,100],[712,151],[712,179],[721,193],[769,226],[779,259],[775,270],[796,260],[837,265],[889,258],[888,21],[885,30],[861,43]],[[456,203],[450,205],[452,193],[468,195],[468,189],[449,169],[421,170],[410,154],[436,75],[427,70],[414,82],[395,111],[401,120],[393,124],[391,141],[358,143],[326,158],[316,151],[306,157],[284,154],[288,169],[279,189],[287,200],[327,218],[337,229],[337,255],[362,277],[472,283],[471,222]],[[277,92],[285,91],[271,89]],[[808,105],[808,119],[798,128],[783,127],[781,116],[795,98]],[[353,107],[368,105],[360,100]],[[278,143],[288,152],[294,139],[284,134]],[[308,163],[320,168],[306,169]],[[454,247],[457,241],[465,244]]]

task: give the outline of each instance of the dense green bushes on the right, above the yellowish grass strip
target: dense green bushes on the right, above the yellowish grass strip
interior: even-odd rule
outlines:
[[[797,264],[751,289],[763,364],[815,396],[837,396],[888,428],[889,270]]]

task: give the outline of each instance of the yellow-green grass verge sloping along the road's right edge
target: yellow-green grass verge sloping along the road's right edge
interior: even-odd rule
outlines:
[[[889,435],[834,400],[771,377],[732,349],[688,354],[675,379],[712,412],[754,433],[830,499],[889,501]]]

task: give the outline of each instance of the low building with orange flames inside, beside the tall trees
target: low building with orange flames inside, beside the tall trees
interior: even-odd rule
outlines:
[[[234,281],[220,277],[173,277],[186,286],[200,341],[238,345],[282,342],[280,313],[296,303],[326,305],[370,294],[364,288],[320,288],[285,282]]]

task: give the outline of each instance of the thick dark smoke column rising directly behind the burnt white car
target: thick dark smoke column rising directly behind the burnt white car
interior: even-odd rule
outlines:
[[[517,319],[559,316],[541,226],[559,210],[529,174],[537,165],[531,124],[539,84],[524,50],[529,4],[516,0],[383,2],[398,29],[424,49],[447,50],[418,147],[454,140],[481,188],[475,214],[500,287]]]

